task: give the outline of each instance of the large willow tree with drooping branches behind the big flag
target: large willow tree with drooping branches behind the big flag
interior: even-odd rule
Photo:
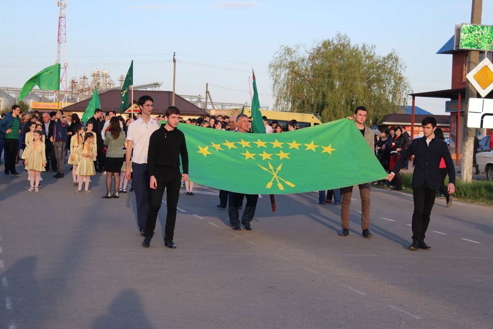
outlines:
[[[380,56],[374,45],[352,45],[347,35],[308,50],[281,46],[269,64],[274,109],[312,113],[327,122],[363,105],[376,123],[406,105],[411,88],[405,68],[395,51]]]

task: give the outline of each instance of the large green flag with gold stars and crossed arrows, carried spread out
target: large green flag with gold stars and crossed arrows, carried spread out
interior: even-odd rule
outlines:
[[[352,186],[387,173],[347,118],[280,134],[248,134],[178,124],[190,181],[248,194],[288,194]],[[212,172],[230,173],[218,180]]]

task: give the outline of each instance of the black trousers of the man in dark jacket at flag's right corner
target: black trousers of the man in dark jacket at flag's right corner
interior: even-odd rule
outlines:
[[[436,189],[430,189],[426,182],[421,186],[413,187],[414,212],[411,222],[413,241],[424,241],[430,222],[431,209],[435,204],[436,191]]]

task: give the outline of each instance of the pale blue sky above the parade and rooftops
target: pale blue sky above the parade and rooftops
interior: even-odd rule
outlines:
[[[0,88],[20,88],[55,63],[55,2],[3,1]],[[159,81],[160,90],[173,90],[175,52],[177,94],[204,98],[209,83],[214,102],[249,104],[253,69],[260,104],[271,109],[268,65],[280,47],[308,49],[337,33],[348,35],[352,44],[375,45],[379,55],[395,50],[407,66],[413,92],[450,88],[452,55],[436,52],[454,35],[456,24],[470,22],[472,0],[66,3],[68,81],[105,69],[119,85],[134,60],[134,84]],[[483,1],[481,23],[493,24],[493,0]],[[416,106],[445,114],[446,100],[417,98]]]

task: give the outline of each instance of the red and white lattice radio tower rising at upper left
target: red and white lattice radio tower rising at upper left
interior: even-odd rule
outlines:
[[[67,66],[69,66],[69,63],[67,62],[67,30],[65,25],[65,18],[67,16],[67,3],[65,0],[57,0],[56,4],[58,5],[58,41],[57,60],[55,64],[60,63],[61,70],[60,94],[57,94],[55,92],[55,101],[67,102]]]

